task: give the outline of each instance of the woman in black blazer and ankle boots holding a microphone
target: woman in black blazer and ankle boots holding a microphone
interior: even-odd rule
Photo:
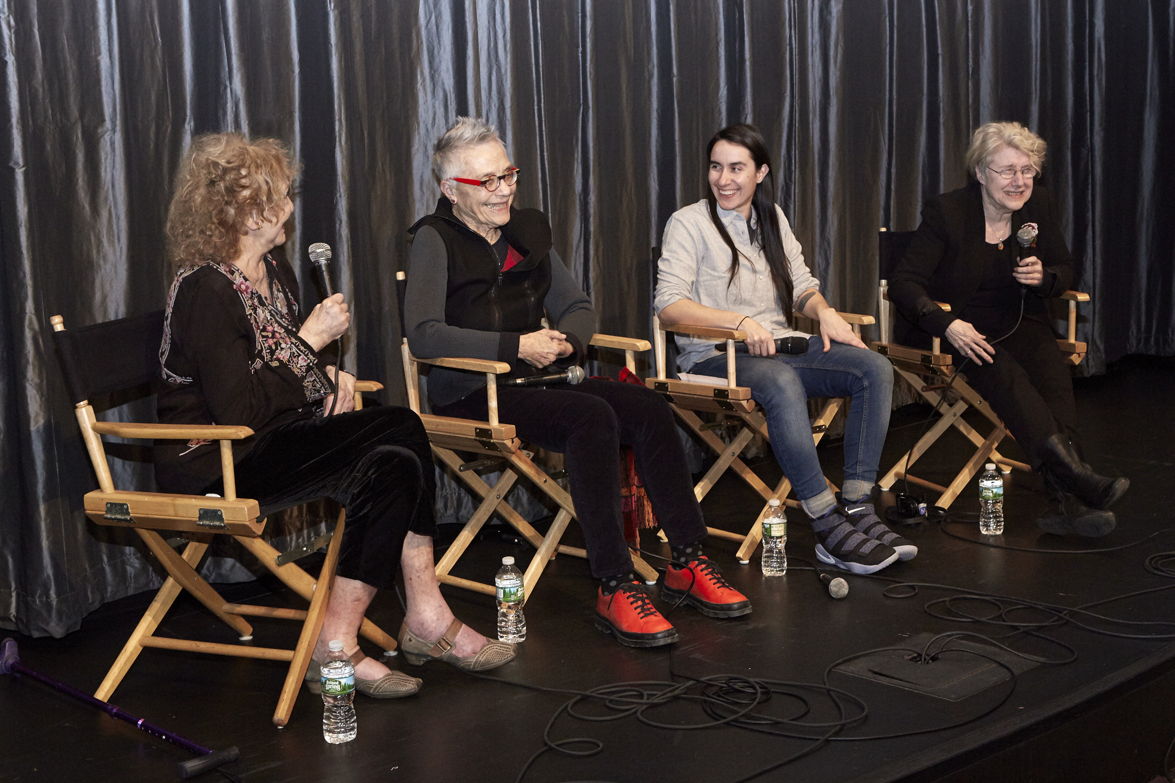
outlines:
[[[926,202],[893,272],[894,336],[918,347],[928,347],[932,337],[947,339],[955,366],[1056,498],[1058,509],[1036,524],[1060,535],[1099,536],[1114,529],[1106,509],[1129,481],[1095,473],[1077,446],[1073,380],[1043,302],[1074,279],[1060,221],[1035,184],[1045,150],[1045,141],[1019,122],[975,130],[966,156],[972,182]],[[1035,239],[1020,252],[1016,236],[1025,227]]]

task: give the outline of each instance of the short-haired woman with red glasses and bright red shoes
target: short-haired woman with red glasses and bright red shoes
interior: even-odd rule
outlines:
[[[404,322],[419,357],[506,362],[510,378],[578,364],[596,331],[591,299],[555,251],[551,224],[516,209],[518,169],[492,126],[458,117],[434,148],[441,197],[417,221]],[[543,324],[544,316],[552,328]],[[486,418],[485,376],[434,367],[432,412]],[[590,378],[575,386],[498,389],[498,418],[566,458],[571,498],[598,580],[596,626],[630,647],[678,639],[632,569],[620,513],[620,444],[630,445],[672,560],[662,596],[712,617],[751,612],[701,551],[706,524],[669,404],[643,385]],[[404,640],[402,640],[404,641]]]

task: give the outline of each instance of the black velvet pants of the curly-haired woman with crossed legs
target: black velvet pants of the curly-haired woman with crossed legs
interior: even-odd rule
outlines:
[[[221,494],[220,480],[206,492]],[[390,589],[404,536],[436,534],[424,425],[407,407],[301,419],[261,436],[236,464],[236,493],[262,515],[329,497],[347,508],[336,573]]]

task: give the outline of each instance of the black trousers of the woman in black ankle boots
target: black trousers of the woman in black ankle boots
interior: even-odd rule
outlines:
[[[985,360],[978,365],[960,364],[958,349],[949,347],[955,366],[1003,420],[1034,471],[1040,470],[1041,444],[1059,432],[1076,438],[1073,377],[1056,347],[1052,328],[1025,318],[1012,335],[993,346],[992,364]]]

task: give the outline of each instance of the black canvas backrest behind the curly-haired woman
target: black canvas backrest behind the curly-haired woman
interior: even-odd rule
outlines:
[[[163,311],[53,332],[74,403],[159,378]]]

